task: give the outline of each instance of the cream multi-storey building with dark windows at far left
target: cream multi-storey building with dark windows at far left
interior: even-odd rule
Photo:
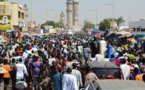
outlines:
[[[10,24],[11,30],[20,30],[26,27],[28,17],[27,10],[26,5],[23,6],[16,2],[0,2],[0,24]],[[7,22],[3,21],[3,16],[8,17]]]

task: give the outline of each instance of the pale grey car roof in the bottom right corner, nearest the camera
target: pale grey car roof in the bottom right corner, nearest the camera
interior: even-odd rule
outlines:
[[[81,90],[145,90],[145,83],[133,80],[96,80]]]

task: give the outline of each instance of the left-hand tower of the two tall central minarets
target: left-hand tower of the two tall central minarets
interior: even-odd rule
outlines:
[[[72,11],[73,11],[72,0],[67,0],[66,4],[67,4],[67,10],[66,10],[66,12],[67,12],[67,28],[68,28],[68,30],[71,30],[72,25],[73,25],[73,23],[72,23]]]

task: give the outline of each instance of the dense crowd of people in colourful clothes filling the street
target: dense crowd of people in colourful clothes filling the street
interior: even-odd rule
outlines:
[[[87,34],[13,37],[0,43],[0,90],[79,90],[100,78],[86,65],[92,58],[119,66],[120,79],[145,81],[144,45],[113,42]]]

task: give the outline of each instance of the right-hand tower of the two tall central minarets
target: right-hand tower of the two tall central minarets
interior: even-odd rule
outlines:
[[[73,25],[75,27],[79,25],[78,7],[79,7],[79,1],[73,0]]]

